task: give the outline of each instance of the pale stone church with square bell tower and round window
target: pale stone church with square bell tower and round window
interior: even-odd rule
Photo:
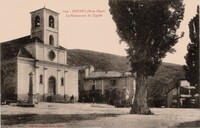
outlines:
[[[59,45],[59,13],[44,7],[30,14],[30,35],[0,43],[2,101],[27,100],[30,77],[37,101],[78,101],[78,69]]]

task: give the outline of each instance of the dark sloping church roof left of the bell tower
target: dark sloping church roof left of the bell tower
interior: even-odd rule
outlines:
[[[1,60],[14,58],[17,56],[26,57],[26,58],[33,58],[31,54],[23,48],[24,45],[32,43],[32,42],[40,42],[43,41],[39,38],[31,38],[31,36],[25,36],[18,39],[6,41],[0,43],[1,47]]]

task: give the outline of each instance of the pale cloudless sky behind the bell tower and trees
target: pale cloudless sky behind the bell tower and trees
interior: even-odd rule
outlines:
[[[200,0],[184,0],[184,20],[178,34],[185,32],[167,54],[164,62],[185,64],[190,42],[188,23],[196,15]],[[46,7],[59,13],[59,44],[67,49],[87,49],[126,56],[126,44],[119,43],[116,25],[109,12],[108,0],[1,0],[0,42],[30,35],[30,12]]]

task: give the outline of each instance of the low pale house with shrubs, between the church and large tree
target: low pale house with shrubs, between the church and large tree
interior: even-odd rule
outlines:
[[[93,66],[87,66],[82,69],[82,73],[84,78],[79,92],[80,101],[113,105],[132,104],[136,79],[130,72],[94,71]]]

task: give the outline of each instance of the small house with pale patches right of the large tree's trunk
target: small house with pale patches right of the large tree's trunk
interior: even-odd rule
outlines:
[[[187,80],[179,80],[178,85],[167,92],[167,107],[195,107],[197,105],[195,86]]]

